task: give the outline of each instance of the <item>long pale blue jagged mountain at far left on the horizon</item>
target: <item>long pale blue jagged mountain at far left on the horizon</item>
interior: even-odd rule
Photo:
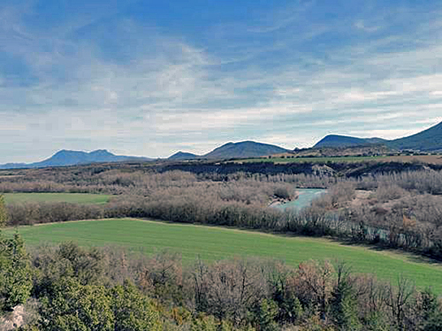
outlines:
[[[76,164],[101,163],[101,162],[129,162],[129,161],[151,161],[146,157],[123,156],[111,154],[105,149],[98,149],[93,152],[61,150],[52,155],[49,159],[34,163],[6,163],[0,165],[0,169],[14,168],[44,168],[61,167]]]

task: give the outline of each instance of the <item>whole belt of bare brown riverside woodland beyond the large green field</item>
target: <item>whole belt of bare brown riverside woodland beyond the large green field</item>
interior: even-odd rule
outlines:
[[[359,178],[246,173],[197,176],[182,171],[156,173],[139,169],[71,171],[33,169],[24,177],[2,178],[0,190],[105,192],[115,196],[103,206],[9,205],[8,224],[149,217],[339,237],[442,260],[442,200],[436,195],[442,193],[441,171],[427,169]],[[299,213],[282,213],[267,207],[274,199],[293,199],[295,186],[328,188],[328,193]],[[370,190],[370,199],[352,204],[355,190]]]

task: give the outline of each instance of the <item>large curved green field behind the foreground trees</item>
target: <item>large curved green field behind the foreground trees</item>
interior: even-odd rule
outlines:
[[[6,229],[11,235],[14,229]],[[377,252],[328,239],[282,237],[239,229],[152,222],[135,219],[64,222],[20,227],[28,246],[72,240],[83,246],[117,245],[147,254],[164,248],[181,252],[184,263],[198,256],[214,261],[256,256],[285,260],[296,266],[303,260],[345,260],[356,273],[376,273],[396,280],[404,275],[420,288],[431,286],[442,294],[442,265],[430,264],[412,255]]]

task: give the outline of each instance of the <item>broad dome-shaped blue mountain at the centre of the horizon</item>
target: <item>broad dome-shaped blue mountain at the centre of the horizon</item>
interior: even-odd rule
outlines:
[[[255,141],[229,142],[221,147],[215,148],[208,154],[202,155],[207,159],[232,159],[259,157],[270,154],[286,153],[287,149],[270,144],[263,144]]]

